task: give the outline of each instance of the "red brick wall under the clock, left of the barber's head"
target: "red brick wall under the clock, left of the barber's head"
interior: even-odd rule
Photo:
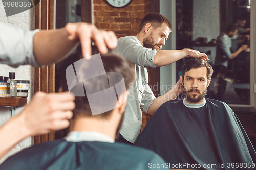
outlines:
[[[136,35],[141,19],[149,12],[149,0],[133,0],[124,8],[113,8],[106,0],[93,1],[94,25],[114,31],[118,38]]]

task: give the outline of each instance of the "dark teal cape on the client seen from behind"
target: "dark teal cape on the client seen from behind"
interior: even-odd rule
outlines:
[[[149,165],[151,167],[164,163],[163,159],[154,152],[132,145],[56,140],[20,151],[1,164],[0,169],[143,170],[150,169]]]

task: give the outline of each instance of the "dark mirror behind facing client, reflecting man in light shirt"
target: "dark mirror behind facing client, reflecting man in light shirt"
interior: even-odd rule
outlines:
[[[177,49],[206,53],[214,68],[206,97],[250,105],[250,0],[179,0],[176,20]]]

